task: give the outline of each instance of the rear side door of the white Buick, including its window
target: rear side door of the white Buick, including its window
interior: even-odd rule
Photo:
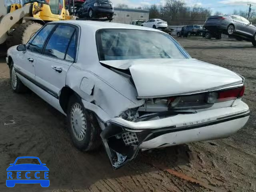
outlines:
[[[60,111],[61,108],[56,99],[66,85],[67,71],[74,62],[77,37],[78,28],[76,26],[58,24],[51,36],[48,37],[35,66],[35,80],[49,94],[44,99]]]

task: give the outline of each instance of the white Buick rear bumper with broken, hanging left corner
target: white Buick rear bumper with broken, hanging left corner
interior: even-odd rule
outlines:
[[[102,131],[106,152],[114,169],[122,167],[140,148],[160,148],[194,141],[226,138],[242,128],[250,116],[248,106],[237,106],[179,114],[160,120],[129,122],[109,120]]]

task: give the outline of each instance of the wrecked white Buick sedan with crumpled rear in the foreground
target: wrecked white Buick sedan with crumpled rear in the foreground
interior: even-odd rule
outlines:
[[[103,141],[114,169],[139,149],[226,138],[250,115],[242,76],[192,59],[156,29],[51,22],[6,62],[14,92],[29,88],[66,115],[78,149]]]

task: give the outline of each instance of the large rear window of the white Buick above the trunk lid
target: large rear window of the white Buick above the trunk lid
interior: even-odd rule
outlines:
[[[96,38],[100,60],[190,58],[171,36],[162,32],[102,29]]]

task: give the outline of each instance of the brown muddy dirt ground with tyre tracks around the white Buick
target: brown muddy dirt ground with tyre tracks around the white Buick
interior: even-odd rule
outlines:
[[[202,192],[256,191],[256,48],[250,42],[179,38],[193,58],[246,78],[244,101],[251,116],[230,138],[139,153],[112,170],[104,148],[80,152],[71,143],[65,117],[33,93],[14,94],[9,69],[0,61],[0,191]],[[4,126],[14,120],[16,124]],[[37,156],[50,169],[50,187],[6,187],[6,168],[19,156]]]

